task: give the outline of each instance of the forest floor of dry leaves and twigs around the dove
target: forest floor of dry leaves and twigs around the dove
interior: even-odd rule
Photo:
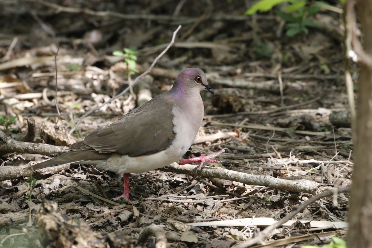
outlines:
[[[0,128],[6,135],[21,141],[32,117],[36,135],[27,141],[68,146],[169,90],[181,70],[199,67],[215,95],[201,92],[205,118],[185,158],[228,148],[217,157],[221,163],[206,163],[201,174],[176,173],[175,167],[132,174],[131,198],[141,200],[133,206],[110,201],[122,193],[120,175],[68,165],[30,176],[19,168],[53,152],[1,152],[0,247],[154,247],[160,233],[167,247],[227,248],[258,236],[272,220],[321,193],[318,188],[350,184],[351,129],[330,122],[331,113],[349,108],[340,13],[321,10],[311,17],[319,26],[288,36],[273,12],[245,16],[251,1],[190,2],[0,3]],[[76,126],[147,70],[179,25],[175,44],[133,91]],[[139,73],[131,78],[123,59],[112,55],[123,48],[138,51]],[[210,177],[211,167],[223,170]],[[18,173],[4,175],[5,168]],[[228,170],[273,181],[231,181]],[[297,186],[288,186],[296,180]],[[283,225],[264,241],[270,247],[330,242],[344,233],[347,205],[318,200],[292,220],[321,224]],[[270,220],[254,222],[260,218]],[[219,220],[225,222],[213,222]],[[151,223],[158,236],[140,235]]]

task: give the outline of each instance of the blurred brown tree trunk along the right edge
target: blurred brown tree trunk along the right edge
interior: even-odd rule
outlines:
[[[349,0],[350,1],[350,0]],[[363,49],[372,57],[372,1],[357,0]],[[372,247],[372,67],[360,61],[355,144],[355,166],[350,191],[347,247]]]

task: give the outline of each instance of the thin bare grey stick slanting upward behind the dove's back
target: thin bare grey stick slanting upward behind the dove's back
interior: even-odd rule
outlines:
[[[101,104],[100,106],[92,109],[92,110],[89,110],[88,112],[86,112],[83,116],[81,116],[81,118],[78,120],[78,122],[76,123],[76,125],[74,126],[73,129],[71,129],[70,131],[70,134],[73,133],[77,126],[80,125],[81,121],[87,117],[88,115],[90,115],[91,113],[93,113],[94,111],[100,109],[101,107],[105,106],[106,104],[112,102],[113,100],[117,99],[118,97],[124,95],[130,88],[134,87],[137,82],[142,78],[144,77],[145,75],[149,74],[151,69],[154,67],[154,65],[156,64],[156,62],[168,51],[168,49],[173,45],[174,43],[174,39],[176,38],[176,34],[177,32],[180,30],[181,28],[181,25],[178,26],[178,28],[176,29],[176,31],[173,32],[173,37],[172,37],[172,40],[170,41],[170,43],[168,44],[168,46],[164,49],[163,52],[161,52],[155,59],[154,59],[154,62],[150,65],[150,67],[148,67],[148,69],[142,73],[141,75],[139,75],[138,77],[135,78],[135,80],[133,81],[132,85],[131,86],[128,86],[125,90],[123,90],[120,94],[118,94],[117,96],[109,99],[108,101],[106,101],[105,103]]]

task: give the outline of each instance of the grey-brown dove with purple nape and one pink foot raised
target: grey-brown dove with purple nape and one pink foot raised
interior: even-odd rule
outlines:
[[[90,133],[70,146],[71,151],[33,165],[26,170],[64,164],[94,164],[97,168],[123,173],[124,193],[114,200],[129,199],[129,174],[144,173],[178,161],[217,162],[210,160],[222,152],[190,159],[181,158],[190,148],[204,116],[200,91],[208,85],[199,68],[187,68],[178,74],[166,93],[129,112],[103,129]],[[180,159],[181,158],[181,159]]]

